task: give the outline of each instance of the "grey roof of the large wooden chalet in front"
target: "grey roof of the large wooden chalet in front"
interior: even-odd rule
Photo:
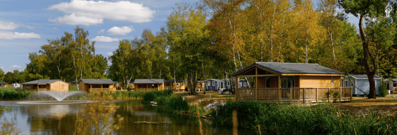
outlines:
[[[327,68],[318,64],[302,64],[302,63],[263,63],[255,62],[254,64],[243,68],[232,75],[235,75],[247,68],[259,66],[273,72],[282,73],[310,73],[310,74],[344,74],[343,72]]]

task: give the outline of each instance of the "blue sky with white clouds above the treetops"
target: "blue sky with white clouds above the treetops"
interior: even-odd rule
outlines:
[[[96,41],[95,54],[109,57],[121,39],[140,37],[145,28],[153,34],[159,31],[175,3],[196,1],[0,0],[0,68],[24,70],[29,53],[38,53],[48,40],[60,39],[65,32],[74,33],[76,25]],[[358,18],[347,17],[357,26]]]

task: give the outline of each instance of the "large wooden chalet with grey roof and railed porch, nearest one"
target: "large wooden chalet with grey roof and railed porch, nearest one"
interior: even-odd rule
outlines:
[[[236,82],[238,77],[254,78],[252,88],[238,88],[236,83],[236,100],[318,103],[352,97],[351,87],[341,87],[343,72],[318,64],[255,62],[232,76]]]

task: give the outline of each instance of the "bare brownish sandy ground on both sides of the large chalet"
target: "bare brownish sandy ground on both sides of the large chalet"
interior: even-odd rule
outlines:
[[[182,94],[188,102],[198,106],[207,106],[215,101],[234,100],[235,95],[222,95],[216,91],[197,92],[198,95],[189,95],[188,92],[175,92]],[[211,97],[209,97],[211,95]],[[397,96],[397,95],[395,95]],[[351,114],[360,114],[369,110],[379,111],[380,114],[394,115],[397,114],[397,98],[387,96],[376,99],[366,99],[365,97],[353,97],[351,102],[333,103],[343,111],[349,111]]]

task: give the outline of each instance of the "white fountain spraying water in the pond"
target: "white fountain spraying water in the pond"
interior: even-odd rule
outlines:
[[[65,100],[65,98],[70,96],[80,96],[85,95],[83,91],[38,91],[29,95],[30,99],[49,99],[54,98],[58,101],[23,101],[17,104],[76,104],[76,103],[92,103],[93,101],[83,101],[83,100]]]

